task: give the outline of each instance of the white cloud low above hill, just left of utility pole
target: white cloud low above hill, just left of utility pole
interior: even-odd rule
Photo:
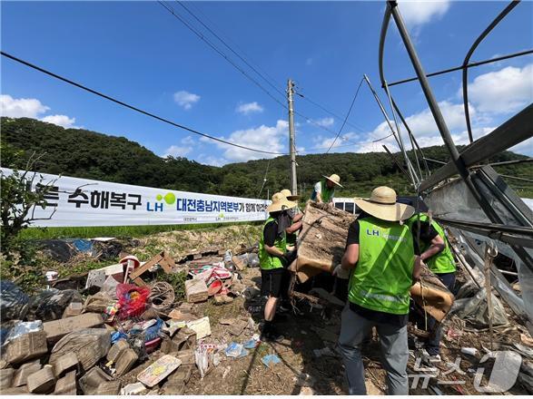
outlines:
[[[238,143],[242,146],[251,147],[262,151],[283,152],[285,141],[289,138],[289,123],[278,121],[275,126],[261,125],[257,128],[233,131],[229,138],[221,139]],[[200,141],[213,143],[212,140],[202,137]],[[244,150],[239,147],[229,146],[220,142],[214,142],[218,148],[223,150],[223,158],[228,162],[241,162],[259,160],[262,158],[274,158],[278,155],[265,154]]]

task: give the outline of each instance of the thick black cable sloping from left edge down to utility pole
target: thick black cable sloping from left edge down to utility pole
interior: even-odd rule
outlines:
[[[282,153],[282,152],[262,151],[262,150],[254,149],[252,147],[246,147],[246,146],[243,146],[241,144],[236,144],[236,143],[234,143],[232,141],[225,141],[225,140],[219,139],[217,137],[214,137],[214,136],[212,136],[210,134],[202,133],[201,131],[196,131],[196,130],[194,130],[192,128],[188,128],[187,126],[183,126],[182,124],[169,121],[168,119],[165,119],[165,118],[163,118],[161,116],[155,115],[155,114],[153,114],[151,112],[144,111],[144,110],[142,110],[140,108],[137,108],[137,107],[135,107],[133,105],[130,105],[130,104],[126,103],[126,102],[122,102],[120,100],[117,100],[117,99],[115,99],[115,98],[113,98],[113,97],[111,97],[111,96],[109,96],[107,94],[104,94],[103,92],[97,92],[94,89],[90,89],[89,87],[86,87],[86,86],[84,86],[81,83],[75,83],[74,81],[71,81],[70,79],[64,78],[63,76],[60,76],[60,75],[58,75],[56,73],[52,73],[50,71],[47,71],[44,68],[41,68],[40,66],[37,66],[37,65],[35,65],[33,63],[28,63],[27,61],[21,60],[20,58],[15,57],[15,55],[7,54],[7,53],[5,53],[3,51],[0,51],[0,54],[4,55],[7,58],[10,58],[11,60],[13,60],[13,61],[15,61],[17,63],[22,63],[22,64],[24,64],[26,66],[29,66],[30,68],[35,69],[36,71],[39,71],[39,72],[45,73],[45,74],[47,74],[49,76],[52,76],[55,79],[63,81],[64,83],[72,84],[73,86],[76,86],[76,87],[84,90],[85,92],[91,92],[91,93],[93,93],[93,94],[95,94],[95,95],[97,95],[99,97],[102,97],[102,98],[104,98],[106,100],[109,100],[111,102],[115,102],[115,103],[117,103],[119,105],[122,105],[125,108],[129,108],[130,110],[133,110],[135,112],[143,113],[146,116],[149,116],[149,117],[151,117],[153,119],[156,119],[158,121],[161,121],[161,122],[168,123],[170,125],[173,125],[174,127],[177,127],[179,129],[183,129],[184,131],[190,131],[190,132],[192,132],[194,134],[198,134],[199,136],[211,139],[213,141],[222,142],[223,144],[232,145],[233,147],[238,147],[238,148],[241,148],[242,150],[262,152],[264,154],[287,155],[286,153]]]

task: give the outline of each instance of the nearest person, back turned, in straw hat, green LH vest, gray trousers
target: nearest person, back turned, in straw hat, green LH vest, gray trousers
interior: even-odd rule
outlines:
[[[350,278],[339,337],[349,393],[366,394],[361,343],[375,326],[387,394],[409,394],[410,287],[419,278],[421,260],[415,256],[409,227],[400,220],[409,219],[414,209],[397,203],[389,187],[374,189],[370,199],[354,200],[363,214],[350,225],[341,265],[333,271]]]

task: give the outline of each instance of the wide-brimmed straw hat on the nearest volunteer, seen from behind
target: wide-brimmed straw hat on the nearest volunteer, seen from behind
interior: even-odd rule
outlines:
[[[405,220],[415,213],[415,209],[410,205],[396,202],[396,191],[390,187],[381,186],[372,190],[370,199],[353,200],[360,209],[382,220]]]

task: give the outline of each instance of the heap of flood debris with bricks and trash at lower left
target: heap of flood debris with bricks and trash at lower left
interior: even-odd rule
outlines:
[[[258,266],[256,252],[127,256],[88,272],[80,290],[48,287],[34,296],[1,281],[1,394],[183,394],[193,373],[203,378],[222,356],[235,356],[235,345],[243,356],[259,343],[249,317],[222,319],[232,340],[213,343],[201,310],[210,298],[223,306],[241,297],[240,271]],[[180,273],[184,298],[158,278]]]

